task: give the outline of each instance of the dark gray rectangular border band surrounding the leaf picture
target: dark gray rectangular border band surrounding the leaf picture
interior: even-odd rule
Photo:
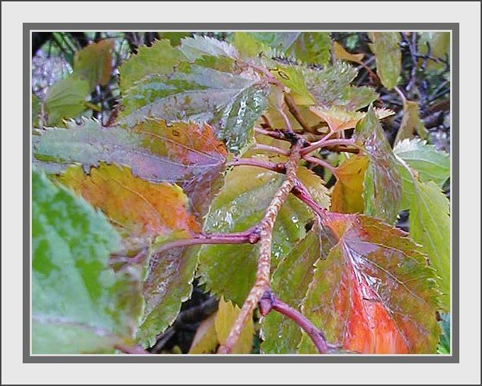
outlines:
[[[30,35],[67,31],[452,31],[451,355],[30,355]],[[459,23],[23,23],[23,363],[459,363]],[[454,124],[456,128],[453,130]],[[28,226],[27,226],[28,225]],[[454,258],[455,257],[455,258]]]

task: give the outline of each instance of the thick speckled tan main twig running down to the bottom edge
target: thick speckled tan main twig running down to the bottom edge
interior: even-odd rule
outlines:
[[[245,328],[246,322],[252,317],[252,312],[257,307],[264,292],[269,289],[271,241],[274,221],[276,221],[276,216],[278,216],[279,210],[286,201],[291,189],[293,189],[296,184],[296,170],[298,170],[298,161],[301,158],[300,150],[302,143],[302,140],[297,140],[291,146],[291,154],[288,162],[286,162],[286,180],[284,180],[281,187],[279,187],[276,194],[274,194],[274,197],[264,214],[264,219],[261,221],[261,226],[259,228],[259,256],[256,280],[245,303],[242,305],[242,309],[231,328],[228,338],[226,338],[225,343],[218,349],[218,353],[220,354],[228,354],[231,352],[232,347],[240,337],[242,330]]]

